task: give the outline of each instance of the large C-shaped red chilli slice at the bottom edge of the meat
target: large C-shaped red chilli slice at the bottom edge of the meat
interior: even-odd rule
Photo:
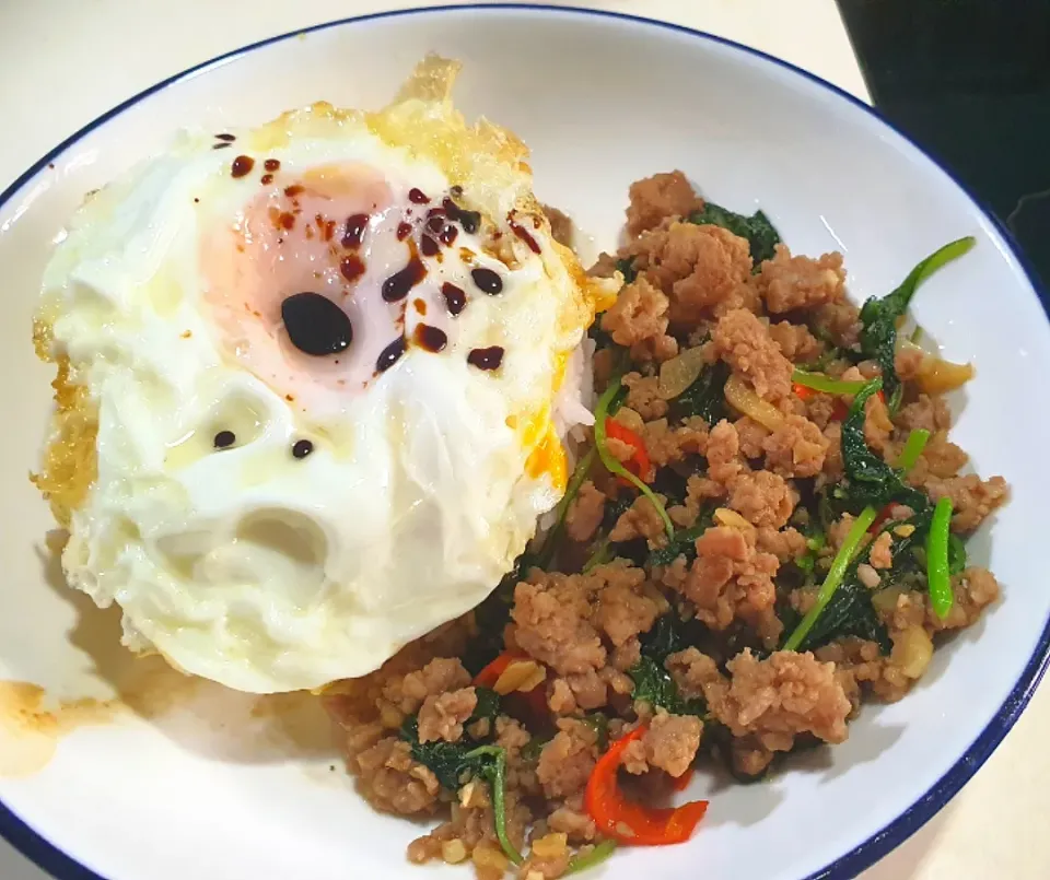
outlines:
[[[609,747],[587,779],[584,805],[598,830],[607,837],[637,846],[684,843],[708,811],[708,801],[692,800],[681,807],[645,807],[628,800],[617,773],[627,747],[645,736],[641,725]]]

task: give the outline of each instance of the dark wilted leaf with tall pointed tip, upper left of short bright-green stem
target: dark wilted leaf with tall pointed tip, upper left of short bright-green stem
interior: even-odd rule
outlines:
[[[849,415],[842,422],[842,462],[848,483],[836,486],[835,497],[852,511],[867,506],[880,511],[890,502],[924,511],[930,500],[905,483],[901,474],[873,453],[864,439],[864,404],[882,387],[882,378],[866,383],[853,398]]]

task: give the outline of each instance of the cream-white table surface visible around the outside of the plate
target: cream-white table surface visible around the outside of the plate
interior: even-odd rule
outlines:
[[[875,0],[873,0],[875,1]],[[447,2],[447,0],[446,0]],[[555,4],[568,5],[568,3]],[[576,0],[710,31],[866,98],[833,0]],[[265,37],[404,0],[0,0],[0,190],[56,143],[158,80]],[[965,707],[960,707],[965,711]],[[1050,691],[966,788],[864,880],[1050,878]],[[0,841],[0,880],[46,880]],[[149,880],[143,878],[142,880]],[[196,879],[195,879],[196,880]]]

